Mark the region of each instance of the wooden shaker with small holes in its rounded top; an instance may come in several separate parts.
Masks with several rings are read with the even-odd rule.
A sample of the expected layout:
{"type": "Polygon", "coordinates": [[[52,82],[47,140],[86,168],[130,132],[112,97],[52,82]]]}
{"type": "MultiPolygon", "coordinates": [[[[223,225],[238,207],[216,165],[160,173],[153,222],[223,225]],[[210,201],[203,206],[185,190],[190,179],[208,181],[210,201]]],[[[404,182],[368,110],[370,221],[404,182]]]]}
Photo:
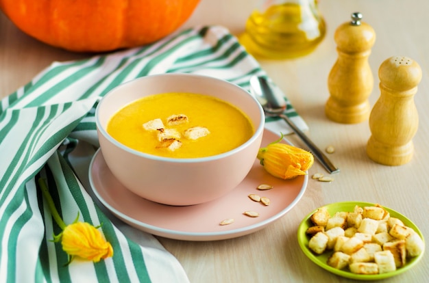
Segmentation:
{"type": "Polygon", "coordinates": [[[370,159],[384,165],[402,165],[413,157],[413,137],[419,126],[414,95],[421,80],[421,68],[408,57],[394,56],[378,69],[380,98],[369,116],[370,159]]]}

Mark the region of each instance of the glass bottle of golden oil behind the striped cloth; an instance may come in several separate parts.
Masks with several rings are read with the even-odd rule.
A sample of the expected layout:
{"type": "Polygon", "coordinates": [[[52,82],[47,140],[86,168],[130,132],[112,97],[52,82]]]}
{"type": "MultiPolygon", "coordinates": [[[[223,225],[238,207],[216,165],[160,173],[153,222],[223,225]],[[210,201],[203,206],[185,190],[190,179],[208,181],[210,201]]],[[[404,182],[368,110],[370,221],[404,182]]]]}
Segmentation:
{"type": "Polygon", "coordinates": [[[311,53],[323,40],[326,25],[317,0],[265,2],[247,19],[239,41],[256,58],[290,59],[311,53]]]}

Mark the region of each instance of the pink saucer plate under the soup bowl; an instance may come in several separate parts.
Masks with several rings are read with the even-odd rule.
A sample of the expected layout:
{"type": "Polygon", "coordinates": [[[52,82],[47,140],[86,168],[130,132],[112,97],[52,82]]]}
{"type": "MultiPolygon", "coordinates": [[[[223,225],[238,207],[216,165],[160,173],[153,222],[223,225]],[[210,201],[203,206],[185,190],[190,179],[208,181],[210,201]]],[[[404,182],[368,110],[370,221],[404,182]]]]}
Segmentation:
{"type": "MultiPolygon", "coordinates": [[[[279,138],[265,129],[262,146],[279,138]]],[[[283,142],[287,143],[285,139],[283,142]]],[[[101,150],[97,150],[90,163],[89,180],[100,202],[130,226],[169,239],[215,241],[256,232],[285,215],[304,195],[308,175],[291,180],[275,178],[256,159],[245,180],[227,195],[193,206],[169,206],[145,200],[126,189],[110,172],[101,150]],[[260,184],[273,185],[273,189],[260,191],[256,189],[260,184]],[[269,198],[271,204],[250,200],[250,193],[269,198]],[[248,217],[244,211],[256,211],[259,217],[248,217]],[[219,225],[229,218],[234,223],[219,225]]]]}

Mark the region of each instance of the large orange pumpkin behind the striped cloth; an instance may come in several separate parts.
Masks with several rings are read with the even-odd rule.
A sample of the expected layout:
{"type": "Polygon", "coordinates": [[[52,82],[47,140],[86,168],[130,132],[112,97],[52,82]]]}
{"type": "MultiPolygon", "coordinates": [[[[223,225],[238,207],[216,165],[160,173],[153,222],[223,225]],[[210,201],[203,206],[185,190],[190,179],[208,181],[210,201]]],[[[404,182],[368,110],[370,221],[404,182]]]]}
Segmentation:
{"type": "Polygon", "coordinates": [[[167,36],[199,0],[0,0],[0,9],[29,36],[70,51],[99,52],[167,36]]]}

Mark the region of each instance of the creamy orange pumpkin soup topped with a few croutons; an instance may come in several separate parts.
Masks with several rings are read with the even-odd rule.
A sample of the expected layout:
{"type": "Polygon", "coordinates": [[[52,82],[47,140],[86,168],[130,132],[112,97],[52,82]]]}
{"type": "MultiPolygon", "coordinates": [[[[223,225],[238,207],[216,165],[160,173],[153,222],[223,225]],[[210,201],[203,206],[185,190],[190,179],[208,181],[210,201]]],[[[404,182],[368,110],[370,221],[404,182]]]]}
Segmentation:
{"type": "Polygon", "coordinates": [[[244,144],[254,134],[237,107],[203,94],[165,93],[140,98],[112,116],[108,133],[148,154],[209,157],[244,144]]]}

